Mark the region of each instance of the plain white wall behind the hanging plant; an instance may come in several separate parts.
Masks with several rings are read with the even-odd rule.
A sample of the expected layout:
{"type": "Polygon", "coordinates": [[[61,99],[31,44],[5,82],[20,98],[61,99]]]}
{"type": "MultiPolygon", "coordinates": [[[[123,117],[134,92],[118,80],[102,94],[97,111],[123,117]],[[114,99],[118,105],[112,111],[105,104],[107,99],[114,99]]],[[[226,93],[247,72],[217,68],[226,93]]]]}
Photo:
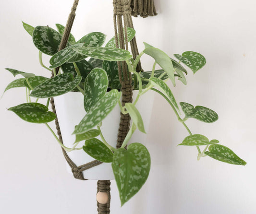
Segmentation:
{"type": "MultiPolygon", "coordinates": [[[[256,1],[155,0],[157,17],[134,18],[140,50],[143,41],[170,56],[193,50],[207,65],[187,86],[172,89],[177,101],[214,109],[213,124],[189,119],[193,133],[218,139],[247,161],[233,166],[205,157],[194,147],[176,146],[188,135],[168,104],[155,99],[147,147],[152,166],[140,192],[122,208],[115,181],[112,214],[256,213],[256,1]]],[[[65,24],[73,0],[0,2],[0,92],[14,80],[4,68],[49,76],[21,21],[65,24]]],[[[113,35],[112,1],[81,0],[73,25],[76,39],[92,31],[113,35]]],[[[49,58],[45,58],[45,62],[49,58]]],[[[143,67],[150,70],[149,58],[143,67]]],[[[96,214],[96,181],[80,181],[66,172],[61,149],[43,125],[26,123],[6,108],[24,102],[24,90],[12,89],[0,100],[0,213],[96,214]]]]}

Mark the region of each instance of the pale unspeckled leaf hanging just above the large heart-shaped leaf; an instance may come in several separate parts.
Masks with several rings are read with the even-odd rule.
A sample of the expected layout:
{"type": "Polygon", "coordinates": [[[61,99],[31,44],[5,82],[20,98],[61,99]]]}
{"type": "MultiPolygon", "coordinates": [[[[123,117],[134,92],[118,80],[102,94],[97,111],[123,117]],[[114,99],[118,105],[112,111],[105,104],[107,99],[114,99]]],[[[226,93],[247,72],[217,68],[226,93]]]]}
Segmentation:
{"type": "Polygon", "coordinates": [[[136,127],[138,128],[138,130],[143,133],[146,133],[141,115],[140,115],[138,109],[134,106],[134,104],[133,103],[125,103],[124,107],[128,111],[129,115],[131,116],[131,118],[132,118],[134,124],[136,125],[136,127]]]}

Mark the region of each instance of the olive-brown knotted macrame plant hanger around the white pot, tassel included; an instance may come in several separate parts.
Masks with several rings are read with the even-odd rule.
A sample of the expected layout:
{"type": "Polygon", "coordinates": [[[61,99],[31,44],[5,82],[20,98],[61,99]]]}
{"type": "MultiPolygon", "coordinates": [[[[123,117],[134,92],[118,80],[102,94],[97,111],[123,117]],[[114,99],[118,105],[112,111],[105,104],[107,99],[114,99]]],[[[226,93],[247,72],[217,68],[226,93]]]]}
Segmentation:
{"type": "MultiPolygon", "coordinates": [[[[71,13],[69,14],[68,21],[65,26],[63,36],[61,38],[59,51],[65,48],[67,45],[71,28],[74,22],[75,11],[76,11],[78,2],[79,0],[74,0],[73,2],[71,13]]],[[[144,18],[147,17],[148,15],[149,16],[157,15],[155,5],[154,5],[154,0],[113,0],[113,7],[114,7],[114,29],[115,29],[116,47],[128,50],[127,27],[134,28],[132,15],[134,17],[137,17],[138,15],[140,15],[144,18]]],[[[139,55],[135,37],[130,41],[130,45],[131,45],[133,58],[135,59],[139,55]]],[[[56,68],[56,73],[59,72],[59,69],[60,67],[56,68]]],[[[142,71],[140,62],[138,63],[136,70],[142,71]]],[[[124,106],[125,103],[133,101],[132,76],[131,76],[131,73],[127,71],[127,66],[125,61],[118,62],[118,73],[119,73],[120,83],[122,84],[122,88],[121,88],[122,105],[124,106]]],[[[53,77],[53,71],[52,71],[51,77],[53,77]]],[[[56,114],[53,98],[50,99],[50,103],[51,103],[52,111],[56,114]]],[[[117,136],[117,146],[116,146],[117,148],[121,147],[129,131],[130,120],[131,118],[129,114],[123,115],[121,113],[118,136],[117,136]]],[[[55,119],[55,125],[57,129],[57,133],[59,135],[59,140],[63,144],[57,114],[55,119]]],[[[67,163],[71,167],[73,176],[76,179],[87,180],[83,176],[83,171],[102,164],[102,162],[98,160],[94,160],[84,165],[76,166],[63,148],[62,148],[62,153],[67,163]]],[[[98,214],[110,214],[110,180],[98,180],[97,193],[98,192],[106,192],[108,194],[108,202],[106,204],[97,202],[98,214]]]]}

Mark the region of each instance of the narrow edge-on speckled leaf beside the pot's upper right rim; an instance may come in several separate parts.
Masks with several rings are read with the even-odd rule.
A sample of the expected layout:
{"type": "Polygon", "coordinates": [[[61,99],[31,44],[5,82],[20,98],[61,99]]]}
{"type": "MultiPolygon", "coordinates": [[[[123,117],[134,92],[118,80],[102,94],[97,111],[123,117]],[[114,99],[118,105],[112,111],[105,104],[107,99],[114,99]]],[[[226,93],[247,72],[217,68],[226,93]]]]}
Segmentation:
{"type": "Polygon", "coordinates": [[[180,110],[171,92],[171,89],[168,87],[168,85],[165,82],[163,82],[162,80],[159,80],[156,77],[150,77],[149,82],[154,87],[158,87],[161,90],[161,92],[163,92],[164,95],[166,95],[170,99],[173,106],[175,106],[177,110],[180,110]]]}

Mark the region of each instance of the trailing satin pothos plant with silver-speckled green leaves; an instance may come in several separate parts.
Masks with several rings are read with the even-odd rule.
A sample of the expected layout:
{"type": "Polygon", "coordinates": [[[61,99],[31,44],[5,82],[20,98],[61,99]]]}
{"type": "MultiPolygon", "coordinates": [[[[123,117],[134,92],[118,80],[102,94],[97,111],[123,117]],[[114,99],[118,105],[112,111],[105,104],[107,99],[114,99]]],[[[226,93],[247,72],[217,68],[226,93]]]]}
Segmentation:
{"type": "MultiPolygon", "coordinates": [[[[56,24],[58,31],[49,26],[32,27],[23,23],[24,29],[32,36],[34,45],[39,50],[39,62],[49,71],[53,71],[54,77],[38,76],[34,73],[18,71],[7,68],[13,76],[21,75],[8,84],[5,91],[23,87],[26,91],[26,102],[15,107],[8,108],[21,119],[32,123],[45,124],[56,138],[57,142],[68,152],[84,150],[85,153],[101,162],[112,163],[112,169],[120,193],[121,205],[131,199],[146,182],[150,170],[150,155],[146,147],[141,143],[130,142],[134,131],[138,129],[145,133],[143,119],[136,108],[136,103],[147,91],[153,90],[163,96],[188,131],[182,146],[195,146],[197,159],[209,156],[216,160],[235,165],[245,165],[246,162],[239,158],[231,149],[220,145],[218,140],[209,140],[202,134],[192,134],[185,124],[187,119],[197,119],[206,123],[213,123],[218,119],[215,111],[189,103],[176,102],[167,81],[171,80],[175,86],[176,79],[186,85],[186,69],[182,62],[195,74],[206,64],[206,59],[199,53],[186,51],[182,55],[174,54],[178,61],[171,59],[168,54],[153,46],[145,44],[145,49],[132,58],[129,51],[116,48],[113,37],[104,47],[106,35],[93,32],[76,41],[70,35],[67,47],[58,51],[64,26],[56,24]],[[42,62],[42,53],[52,56],[47,67],[42,62]],[[142,55],[149,55],[155,62],[152,71],[136,72],[136,67],[142,55]],[[88,60],[87,60],[88,59],[88,60]],[[117,61],[126,61],[128,71],[132,73],[133,88],[138,90],[138,95],[133,103],[122,106],[121,84],[118,77],[117,61]],[[156,65],[162,69],[155,70],[156,65]],[[56,72],[56,68],[61,71],[56,72]],[[67,148],[59,141],[48,123],[55,119],[55,114],[49,111],[49,99],[63,95],[70,91],[77,91],[84,95],[85,117],[74,127],[75,142],[72,148],[67,148]],[[35,101],[32,102],[32,98],[35,101]],[[45,104],[39,103],[39,99],[47,98],[45,104]],[[119,105],[123,114],[129,114],[132,119],[130,130],[122,143],[121,148],[116,149],[106,142],[100,126],[113,108],[119,105]],[[181,110],[184,114],[181,114],[181,110]],[[182,117],[183,115],[183,117],[182,117]],[[101,140],[96,137],[100,136],[101,140]],[[78,146],[80,143],[83,146],[78,146]],[[125,147],[127,146],[127,149],[125,147]],[[203,147],[203,148],[201,148],[203,147]]],[[[127,39],[131,41],[135,35],[132,28],[127,28],[127,39]]],[[[50,73],[47,74],[48,76],[50,73]]],[[[42,100],[44,101],[44,100],[42,100]]]]}

